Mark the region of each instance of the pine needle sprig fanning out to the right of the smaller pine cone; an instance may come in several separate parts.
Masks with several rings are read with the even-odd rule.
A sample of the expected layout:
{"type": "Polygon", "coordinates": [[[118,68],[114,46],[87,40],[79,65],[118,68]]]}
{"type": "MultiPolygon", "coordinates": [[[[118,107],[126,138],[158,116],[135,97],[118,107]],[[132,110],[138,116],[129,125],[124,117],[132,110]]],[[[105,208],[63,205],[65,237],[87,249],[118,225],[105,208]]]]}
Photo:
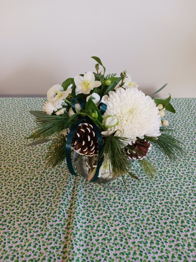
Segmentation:
{"type": "Polygon", "coordinates": [[[160,128],[161,135],[158,139],[151,141],[152,144],[160,150],[169,160],[177,161],[179,158],[186,155],[185,150],[183,149],[183,141],[177,139],[173,136],[171,128],[160,128]]]}

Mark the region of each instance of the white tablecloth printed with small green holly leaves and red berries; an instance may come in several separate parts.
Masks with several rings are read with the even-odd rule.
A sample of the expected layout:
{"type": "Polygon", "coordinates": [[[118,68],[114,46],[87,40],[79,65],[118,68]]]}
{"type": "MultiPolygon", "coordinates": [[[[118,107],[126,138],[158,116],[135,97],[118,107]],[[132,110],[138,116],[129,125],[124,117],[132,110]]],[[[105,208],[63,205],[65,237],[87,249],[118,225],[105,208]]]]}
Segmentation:
{"type": "Polygon", "coordinates": [[[196,261],[196,99],[172,99],[166,119],[187,157],[158,151],[150,182],[127,177],[106,185],[44,170],[46,145],[25,147],[41,98],[0,99],[0,261],[196,261]]]}

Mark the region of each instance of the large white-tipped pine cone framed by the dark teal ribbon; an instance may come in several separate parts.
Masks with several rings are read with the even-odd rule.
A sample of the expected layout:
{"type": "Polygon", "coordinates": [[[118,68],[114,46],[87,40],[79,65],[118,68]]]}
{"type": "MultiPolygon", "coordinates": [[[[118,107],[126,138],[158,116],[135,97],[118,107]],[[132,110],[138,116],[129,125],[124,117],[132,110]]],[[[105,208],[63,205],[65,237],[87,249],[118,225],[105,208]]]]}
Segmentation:
{"type": "Polygon", "coordinates": [[[71,149],[87,157],[98,153],[98,139],[92,125],[87,123],[78,125],[71,141],[71,149]]]}

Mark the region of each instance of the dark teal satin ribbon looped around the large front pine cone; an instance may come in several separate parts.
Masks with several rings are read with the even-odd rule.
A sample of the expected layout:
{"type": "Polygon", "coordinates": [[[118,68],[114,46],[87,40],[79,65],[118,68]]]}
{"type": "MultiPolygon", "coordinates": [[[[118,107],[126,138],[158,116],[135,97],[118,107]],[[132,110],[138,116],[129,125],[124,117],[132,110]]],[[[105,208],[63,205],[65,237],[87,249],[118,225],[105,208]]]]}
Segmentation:
{"type": "MultiPolygon", "coordinates": [[[[78,101],[82,107],[82,109],[85,108],[85,103],[83,102],[82,99],[80,98],[73,98],[71,100],[71,108],[73,109],[74,113],[77,113],[76,110],[75,110],[75,102],[78,101]]],[[[106,111],[106,108],[107,108],[107,105],[104,104],[104,103],[100,103],[98,105],[98,109],[100,110],[100,113],[101,115],[104,114],[104,112],[106,111]],[[100,107],[101,110],[100,110],[100,107]]],[[[102,139],[102,135],[101,135],[101,132],[100,132],[100,129],[93,123],[93,121],[90,120],[90,118],[88,117],[82,117],[80,118],[74,125],[73,127],[70,129],[70,132],[68,134],[68,137],[67,137],[67,142],[66,142],[66,146],[65,146],[65,153],[66,153],[66,160],[67,160],[67,166],[68,166],[68,169],[69,169],[69,172],[74,175],[74,176],[78,176],[75,171],[74,171],[74,168],[73,168],[73,165],[72,165],[72,160],[71,160],[71,141],[72,141],[72,138],[73,138],[73,135],[74,135],[74,132],[76,131],[78,125],[81,124],[81,122],[85,121],[86,123],[90,124],[93,126],[93,130],[95,131],[96,133],[96,136],[97,136],[97,140],[98,140],[98,146],[99,146],[99,151],[98,151],[98,159],[97,159],[97,165],[96,165],[96,171],[95,171],[95,174],[94,174],[94,177],[93,179],[90,181],[90,182],[95,182],[97,181],[98,179],[98,176],[99,176],[99,170],[100,170],[100,167],[103,163],[103,157],[99,157],[101,152],[103,151],[103,139],[102,139]]]]}

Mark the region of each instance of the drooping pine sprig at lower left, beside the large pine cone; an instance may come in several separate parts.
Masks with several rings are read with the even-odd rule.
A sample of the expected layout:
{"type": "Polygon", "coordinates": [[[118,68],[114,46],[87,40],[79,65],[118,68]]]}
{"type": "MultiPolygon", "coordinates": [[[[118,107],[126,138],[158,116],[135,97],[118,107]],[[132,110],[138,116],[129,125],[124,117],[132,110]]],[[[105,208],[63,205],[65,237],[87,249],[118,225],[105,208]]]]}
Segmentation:
{"type": "Polygon", "coordinates": [[[45,157],[46,168],[59,166],[62,161],[65,159],[65,146],[66,146],[66,137],[64,134],[58,134],[52,142],[46,147],[47,154],[45,157]]]}

